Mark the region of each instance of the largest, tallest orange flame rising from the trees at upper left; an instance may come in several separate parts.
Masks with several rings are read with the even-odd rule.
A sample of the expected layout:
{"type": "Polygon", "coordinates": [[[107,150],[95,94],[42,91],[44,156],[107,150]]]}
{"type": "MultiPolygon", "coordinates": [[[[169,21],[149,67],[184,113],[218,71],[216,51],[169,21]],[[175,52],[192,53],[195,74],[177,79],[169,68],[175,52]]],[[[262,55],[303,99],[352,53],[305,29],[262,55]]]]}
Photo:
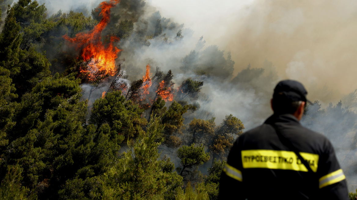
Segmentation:
{"type": "Polygon", "coordinates": [[[63,36],[65,40],[76,47],[77,51],[81,49],[81,56],[85,61],[93,58],[88,69],[91,74],[98,70],[105,70],[110,75],[115,74],[115,59],[118,57],[117,54],[122,50],[114,47],[113,42],[119,41],[119,38],[111,36],[109,44],[105,47],[101,41],[101,33],[109,23],[110,9],[119,3],[119,1],[110,0],[110,2],[101,2],[101,12],[99,15],[102,16],[102,19],[93,30],[88,33],[77,33],[74,38],[70,38],[68,35],[63,36]]]}

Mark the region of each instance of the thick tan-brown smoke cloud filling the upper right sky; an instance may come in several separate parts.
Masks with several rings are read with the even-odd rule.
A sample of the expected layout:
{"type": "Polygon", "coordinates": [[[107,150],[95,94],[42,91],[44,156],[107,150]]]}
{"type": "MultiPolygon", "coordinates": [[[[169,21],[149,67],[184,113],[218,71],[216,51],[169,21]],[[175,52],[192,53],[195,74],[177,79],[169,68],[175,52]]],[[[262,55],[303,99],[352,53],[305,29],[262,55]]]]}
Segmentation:
{"type": "Polygon", "coordinates": [[[348,0],[257,0],[227,37],[227,48],[237,69],[248,63],[258,66],[268,58],[282,78],[302,81],[310,99],[328,105],[357,88],[356,7],[348,0]],[[321,96],[315,90],[325,84],[332,95],[321,96]]]}

